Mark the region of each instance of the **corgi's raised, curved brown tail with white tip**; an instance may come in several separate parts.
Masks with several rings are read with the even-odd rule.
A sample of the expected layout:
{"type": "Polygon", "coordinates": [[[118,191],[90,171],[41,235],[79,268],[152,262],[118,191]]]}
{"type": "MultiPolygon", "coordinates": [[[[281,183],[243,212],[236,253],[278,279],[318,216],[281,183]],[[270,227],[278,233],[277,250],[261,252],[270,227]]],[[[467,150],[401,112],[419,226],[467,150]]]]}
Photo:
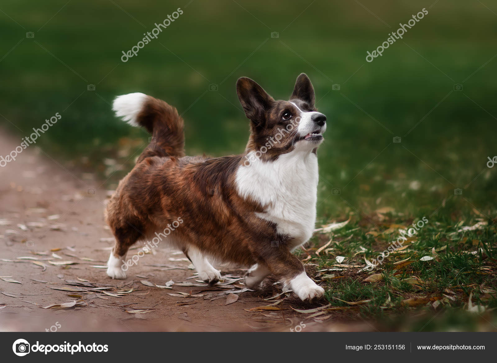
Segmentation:
{"type": "Polygon", "coordinates": [[[150,156],[184,156],[184,121],[176,108],[144,93],[128,93],[114,99],[112,109],[132,126],[152,134],[138,161],[150,156]]]}

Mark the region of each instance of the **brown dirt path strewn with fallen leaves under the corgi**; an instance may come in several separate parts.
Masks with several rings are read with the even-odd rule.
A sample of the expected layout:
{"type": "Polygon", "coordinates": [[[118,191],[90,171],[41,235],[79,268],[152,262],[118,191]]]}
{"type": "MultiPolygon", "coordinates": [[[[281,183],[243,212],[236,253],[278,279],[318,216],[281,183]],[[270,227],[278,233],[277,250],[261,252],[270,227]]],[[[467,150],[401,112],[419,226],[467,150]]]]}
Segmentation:
{"type": "MultiPolygon", "coordinates": [[[[0,155],[19,143],[2,132],[0,155]]],[[[305,319],[309,314],[296,313],[290,306],[320,305],[302,304],[290,294],[276,305],[281,310],[246,311],[273,303],[263,300],[281,292],[271,283],[262,291],[236,293],[238,301],[228,305],[226,291],[243,289],[243,280],[214,287],[144,285],[142,280],[162,286],[169,280],[200,284],[192,278],[195,271],[184,255],[161,245],[131,267],[128,278],[110,279],[105,269],[93,267],[105,265],[113,244],[103,220],[107,191],[100,184],[90,175],[69,171],[34,145],[0,168],[0,331],[289,331],[301,321],[307,331],[353,329],[305,319]],[[67,261],[76,264],[51,264],[67,261]],[[198,296],[177,296],[180,293],[198,296]],[[78,305],[42,308],[72,301],[78,305]]],[[[130,251],[128,258],[137,251],[130,251]]],[[[225,282],[243,273],[223,270],[228,275],[225,282]]]]}

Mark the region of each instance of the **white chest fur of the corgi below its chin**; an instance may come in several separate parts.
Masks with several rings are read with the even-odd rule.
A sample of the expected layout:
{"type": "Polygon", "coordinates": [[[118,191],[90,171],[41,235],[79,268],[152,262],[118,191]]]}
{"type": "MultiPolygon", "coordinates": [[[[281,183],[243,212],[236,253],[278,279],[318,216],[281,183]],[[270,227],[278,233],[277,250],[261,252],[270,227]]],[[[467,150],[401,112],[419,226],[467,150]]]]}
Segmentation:
{"type": "Polygon", "coordinates": [[[318,179],[316,154],[297,150],[274,162],[254,160],[240,166],[236,175],[239,194],[261,203],[265,211],[257,216],[276,223],[278,233],[293,238],[293,248],[312,236],[318,179]]]}

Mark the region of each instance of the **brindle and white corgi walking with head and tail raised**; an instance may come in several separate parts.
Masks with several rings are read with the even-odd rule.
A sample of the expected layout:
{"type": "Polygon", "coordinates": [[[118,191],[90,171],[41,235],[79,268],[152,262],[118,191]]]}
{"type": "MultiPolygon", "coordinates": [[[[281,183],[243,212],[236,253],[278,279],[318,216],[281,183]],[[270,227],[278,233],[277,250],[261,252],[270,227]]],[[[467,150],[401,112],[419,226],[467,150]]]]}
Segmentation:
{"type": "Polygon", "coordinates": [[[302,300],[323,297],[292,251],[315,228],[326,116],[316,110],[304,73],[288,101],[246,77],[237,81],[237,94],[250,120],[247,147],[219,158],[185,156],[183,119],[165,101],[143,93],[115,98],[116,115],[152,137],[107,204],[116,241],[110,277],[126,278],[126,254],[137,241],[165,241],[211,284],[221,279],[213,264],[230,263],[249,268],[250,289],[272,274],[302,300]]]}

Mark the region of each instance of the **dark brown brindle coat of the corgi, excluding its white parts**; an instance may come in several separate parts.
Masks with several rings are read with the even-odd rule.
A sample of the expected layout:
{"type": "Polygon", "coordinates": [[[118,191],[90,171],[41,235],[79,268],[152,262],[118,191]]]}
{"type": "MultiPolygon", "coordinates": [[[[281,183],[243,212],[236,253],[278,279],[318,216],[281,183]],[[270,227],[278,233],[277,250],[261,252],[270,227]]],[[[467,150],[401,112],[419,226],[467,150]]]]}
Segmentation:
{"type": "MultiPolygon", "coordinates": [[[[258,150],[278,129],[284,110],[297,112],[289,101],[274,100],[248,78],[237,93],[250,121],[250,137],[241,155],[220,158],[184,156],[183,119],[166,102],[148,97],[138,123],[152,133],[133,170],[119,182],[110,199],[106,220],[116,238],[113,254],[124,256],[137,240],[147,241],[178,217],[183,223],[167,241],[187,256],[195,246],[211,261],[249,267],[260,264],[288,282],[304,271],[291,253],[290,236],[276,233],[276,225],[256,217],[265,207],[243,199],[235,174],[244,155],[258,150]]],[[[305,111],[315,110],[314,90],[306,75],[297,79],[290,100],[305,111]]],[[[293,149],[296,128],[261,157],[275,160],[293,149]]],[[[316,149],[314,150],[316,152],[316,149]]]]}

